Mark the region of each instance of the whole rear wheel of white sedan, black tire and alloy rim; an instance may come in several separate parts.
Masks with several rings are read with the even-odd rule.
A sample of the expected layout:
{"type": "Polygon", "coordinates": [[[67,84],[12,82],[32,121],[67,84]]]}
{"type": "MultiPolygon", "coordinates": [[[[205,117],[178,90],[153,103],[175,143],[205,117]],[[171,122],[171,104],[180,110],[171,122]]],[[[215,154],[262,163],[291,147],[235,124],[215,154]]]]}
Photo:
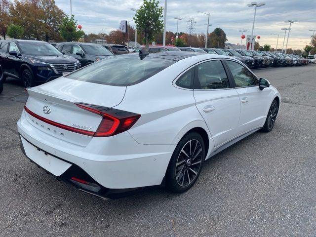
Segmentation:
{"type": "Polygon", "coordinates": [[[204,158],[205,146],[201,135],[197,132],[185,135],[170,159],[166,172],[166,188],[174,193],[189,190],[197,181],[204,158]]]}

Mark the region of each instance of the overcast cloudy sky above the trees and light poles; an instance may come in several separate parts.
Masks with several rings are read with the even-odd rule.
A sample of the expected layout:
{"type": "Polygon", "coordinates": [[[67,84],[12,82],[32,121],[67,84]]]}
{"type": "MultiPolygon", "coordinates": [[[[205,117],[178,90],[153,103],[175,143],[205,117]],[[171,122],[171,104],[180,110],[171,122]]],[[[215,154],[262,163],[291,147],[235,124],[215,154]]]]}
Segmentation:
{"type": "MultiPolygon", "coordinates": [[[[70,14],[70,0],[55,0],[58,7],[66,14],[70,14]]],[[[240,43],[241,33],[239,30],[247,30],[244,34],[251,34],[254,7],[248,7],[251,0],[168,0],[167,4],[167,31],[176,32],[177,21],[174,17],[183,17],[179,21],[179,32],[187,32],[187,21],[194,18],[195,33],[206,33],[207,15],[197,13],[203,11],[210,13],[209,32],[215,28],[222,28],[228,42],[240,43]]],[[[303,48],[306,42],[310,42],[313,32],[316,30],[316,0],[266,0],[266,5],[257,8],[254,35],[260,35],[260,45],[269,43],[276,47],[279,34],[278,48],[282,47],[284,31],[289,23],[285,20],[297,20],[293,23],[290,31],[288,47],[303,48]],[[300,42],[303,41],[303,42],[300,42]]],[[[120,20],[132,20],[134,11],[130,8],[138,8],[141,0],[72,0],[73,14],[82,25],[86,33],[105,33],[118,29],[120,20]]],[[[164,1],[160,1],[164,6],[164,1]]],[[[134,23],[130,22],[133,26],[134,23]]],[[[244,42],[244,40],[243,40],[244,42]]],[[[286,43],[286,39],[285,39],[286,43]]],[[[285,45],[284,45],[285,46],[285,45]]]]}

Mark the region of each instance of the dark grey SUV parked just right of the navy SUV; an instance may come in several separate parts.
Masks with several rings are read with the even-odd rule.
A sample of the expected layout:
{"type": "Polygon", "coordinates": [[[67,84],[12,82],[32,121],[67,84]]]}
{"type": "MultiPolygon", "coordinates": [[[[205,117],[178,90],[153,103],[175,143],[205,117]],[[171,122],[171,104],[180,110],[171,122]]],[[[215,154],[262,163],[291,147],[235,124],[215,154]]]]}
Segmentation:
{"type": "Polygon", "coordinates": [[[105,47],[96,43],[64,42],[57,43],[56,48],[62,53],[78,59],[82,67],[108,56],[114,56],[105,47]]]}

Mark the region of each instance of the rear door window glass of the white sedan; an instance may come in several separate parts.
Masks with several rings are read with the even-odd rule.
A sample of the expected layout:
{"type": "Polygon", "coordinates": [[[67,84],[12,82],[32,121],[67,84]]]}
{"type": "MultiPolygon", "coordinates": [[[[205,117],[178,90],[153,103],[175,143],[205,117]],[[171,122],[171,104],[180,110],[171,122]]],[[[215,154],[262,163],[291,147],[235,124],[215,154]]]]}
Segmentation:
{"type": "Polygon", "coordinates": [[[229,81],[220,60],[208,61],[197,65],[197,89],[229,88],[229,81]]]}

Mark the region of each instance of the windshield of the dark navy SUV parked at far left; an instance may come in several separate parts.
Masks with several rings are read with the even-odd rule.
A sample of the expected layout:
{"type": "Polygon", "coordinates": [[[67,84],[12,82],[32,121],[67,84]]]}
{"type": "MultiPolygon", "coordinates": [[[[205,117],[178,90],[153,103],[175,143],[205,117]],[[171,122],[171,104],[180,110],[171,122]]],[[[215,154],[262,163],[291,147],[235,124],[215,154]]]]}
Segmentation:
{"type": "Polygon", "coordinates": [[[43,42],[19,42],[22,53],[34,56],[59,56],[63,55],[53,45],[43,42]]]}

